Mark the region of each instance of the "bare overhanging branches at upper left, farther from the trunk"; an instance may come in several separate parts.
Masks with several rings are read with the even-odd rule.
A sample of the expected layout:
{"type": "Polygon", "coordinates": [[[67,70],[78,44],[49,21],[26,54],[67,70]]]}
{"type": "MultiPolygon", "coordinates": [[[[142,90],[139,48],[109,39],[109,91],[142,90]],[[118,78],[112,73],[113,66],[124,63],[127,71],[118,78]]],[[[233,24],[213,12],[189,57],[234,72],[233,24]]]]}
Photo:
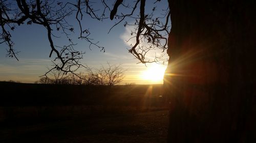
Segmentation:
{"type": "MultiPolygon", "coordinates": [[[[56,58],[52,61],[53,68],[50,69],[47,73],[52,70],[61,70],[65,73],[74,72],[79,67],[83,66],[79,60],[82,59],[83,52],[77,51],[73,46],[75,45],[72,42],[72,38],[69,37],[69,33],[74,32],[74,27],[69,24],[67,18],[75,13],[75,19],[79,24],[79,39],[86,40],[91,45],[94,45],[104,51],[104,47],[97,45],[97,42],[92,41],[89,37],[90,31],[82,28],[81,19],[84,14],[89,15],[91,18],[101,20],[102,16],[95,14],[93,6],[89,1],[80,1],[77,3],[70,2],[57,2],[51,0],[44,1],[25,1],[25,0],[16,0],[0,1],[0,23],[1,23],[1,38],[0,43],[5,43],[8,45],[9,49],[7,50],[7,55],[14,57],[18,60],[16,51],[14,49],[14,42],[11,39],[12,32],[15,32],[15,29],[22,24],[37,24],[45,27],[47,31],[46,37],[49,40],[51,51],[49,57],[51,58],[52,54],[56,54],[56,58]],[[85,9],[85,10],[82,10],[85,9]],[[55,46],[52,37],[53,31],[58,31],[61,34],[64,34],[69,40],[70,45],[63,47],[55,46]]],[[[46,73],[46,74],[47,74],[46,73]]]]}

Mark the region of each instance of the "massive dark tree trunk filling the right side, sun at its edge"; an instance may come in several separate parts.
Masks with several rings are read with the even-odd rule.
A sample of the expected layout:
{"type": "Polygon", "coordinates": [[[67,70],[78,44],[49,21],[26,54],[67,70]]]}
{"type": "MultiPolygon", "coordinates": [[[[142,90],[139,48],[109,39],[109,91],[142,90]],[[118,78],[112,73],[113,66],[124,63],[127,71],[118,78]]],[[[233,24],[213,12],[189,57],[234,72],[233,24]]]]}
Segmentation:
{"type": "Polygon", "coordinates": [[[168,142],[255,139],[255,2],[169,0],[169,7],[168,142]]]}

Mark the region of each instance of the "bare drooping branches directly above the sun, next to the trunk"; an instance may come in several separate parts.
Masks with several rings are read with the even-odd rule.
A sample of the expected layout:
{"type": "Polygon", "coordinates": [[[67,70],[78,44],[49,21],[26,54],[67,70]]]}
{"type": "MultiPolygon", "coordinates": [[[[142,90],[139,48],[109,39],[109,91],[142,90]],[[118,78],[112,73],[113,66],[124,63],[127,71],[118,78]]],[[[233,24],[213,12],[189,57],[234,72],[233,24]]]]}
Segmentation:
{"type": "Polygon", "coordinates": [[[114,18],[117,20],[116,24],[110,28],[110,31],[121,22],[124,22],[125,27],[134,27],[134,30],[131,31],[131,38],[127,40],[129,42],[135,39],[135,43],[131,44],[129,52],[143,64],[153,62],[164,64],[166,62],[164,54],[155,54],[154,60],[148,58],[148,54],[156,49],[161,49],[162,53],[165,53],[164,51],[167,49],[167,36],[170,30],[170,10],[168,7],[160,8],[161,13],[156,13],[159,2],[147,2],[147,6],[152,7],[152,10],[148,11],[145,10],[145,0],[130,2],[126,5],[122,0],[119,0],[116,1],[110,14],[111,20],[114,18]],[[118,7],[122,7],[119,9],[129,8],[130,13],[124,14],[121,10],[119,12],[117,10],[118,7]],[[130,20],[132,22],[125,21],[127,18],[132,19],[130,20]]]}

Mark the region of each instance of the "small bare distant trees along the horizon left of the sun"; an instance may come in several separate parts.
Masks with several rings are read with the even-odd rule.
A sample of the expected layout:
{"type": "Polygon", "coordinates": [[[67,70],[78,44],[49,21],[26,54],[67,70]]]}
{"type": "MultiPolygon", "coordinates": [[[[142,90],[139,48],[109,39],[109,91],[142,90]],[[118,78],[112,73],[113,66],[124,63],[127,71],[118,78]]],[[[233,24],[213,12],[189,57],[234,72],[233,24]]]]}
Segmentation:
{"type": "Polygon", "coordinates": [[[124,78],[125,70],[121,65],[110,65],[100,69],[86,67],[85,72],[66,74],[61,70],[52,70],[49,76],[41,77],[35,83],[43,84],[83,84],[83,85],[116,85],[124,78]]]}

